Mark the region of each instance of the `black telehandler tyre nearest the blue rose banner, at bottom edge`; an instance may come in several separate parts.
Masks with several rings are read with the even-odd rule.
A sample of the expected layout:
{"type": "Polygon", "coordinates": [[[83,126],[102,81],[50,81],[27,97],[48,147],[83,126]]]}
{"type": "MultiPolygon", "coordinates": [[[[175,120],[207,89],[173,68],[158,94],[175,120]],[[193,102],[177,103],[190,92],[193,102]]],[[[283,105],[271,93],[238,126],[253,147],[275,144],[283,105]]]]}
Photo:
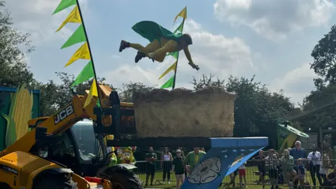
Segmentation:
{"type": "Polygon", "coordinates": [[[116,170],[114,172],[106,173],[109,175],[108,179],[111,181],[112,188],[116,189],[144,189],[142,182],[134,172],[127,170],[116,170]]]}

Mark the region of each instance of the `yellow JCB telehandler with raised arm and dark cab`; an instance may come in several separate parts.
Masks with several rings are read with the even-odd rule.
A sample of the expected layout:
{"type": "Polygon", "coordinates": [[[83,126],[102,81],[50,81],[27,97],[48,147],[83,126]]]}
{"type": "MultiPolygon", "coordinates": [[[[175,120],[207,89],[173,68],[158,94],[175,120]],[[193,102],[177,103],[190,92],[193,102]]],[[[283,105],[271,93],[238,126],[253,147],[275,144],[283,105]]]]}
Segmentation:
{"type": "Polygon", "coordinates": [[[118,93],[104,85],[99,85],[99,95],[101,107],[95,98],[83,107],[87,95],[74,94],[72,102],[54,116],[29,120],[33,130],[0,152],[0,188],[142,188],[130,172],[137,167],[107,166],[104,143],[107,134],[120,139],[121,133],[137,132],[133,104],[120,103],[118,93]],[[81,136],[90,143],[81,144],[83,140],[71,129],[75,124],[92,128],[81,136]]]}

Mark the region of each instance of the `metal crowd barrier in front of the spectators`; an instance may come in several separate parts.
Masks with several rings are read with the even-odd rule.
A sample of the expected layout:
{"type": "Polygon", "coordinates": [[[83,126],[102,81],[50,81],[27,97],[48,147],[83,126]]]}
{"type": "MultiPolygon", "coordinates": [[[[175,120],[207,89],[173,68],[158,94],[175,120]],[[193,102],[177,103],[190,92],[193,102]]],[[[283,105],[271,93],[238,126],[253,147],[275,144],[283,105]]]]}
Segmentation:
{"type": "MultiPolygon", "coordinates": [[[[321,160],[318,160],[321,162],[321,160]]],[[[324,161],[324,160],[323,160],[324,161]]],[[[325,162],[330,162],[330,167],[328,169],[328,174],[330,174],[333,169],[332,169],[332,165],[336,165],[336,160],[326,160],[325,162]]],[[[155,176],[154,176],[154,182],[153,184],[155,186],[160,187],[164,186],[165,184],[167,184],[168,182],[170,182],[171,184],[174,184],[176,182],[176,177],[174,172],[166,172],[164,173],[161,167],[161,163],[162,161],[156,161],[155,162],[155,176]],[[168,180],[168,173],[170,174],[170,178],[168,180]],[[164,174],[165,174],[165,178],[164,178],[164,174]]],[[[258,160],[248,160],[246,162],[246,185],[259,185],[259,186],[271,186],[271,180],[269,179],[269,163],[266,161],[265,162],[265,176],[261,177],[263,178],[263,180],[260,180],[260,173],[258,170],[258,163],[260,163],[260,161],[258,160]]],[[[296,162],[293,162],[294,165],[296,165],[296,162]]],[[[304,169],[305,169],[305,174],[304,176],[302,176],[302,179],[304,182],[307,182],[308,185],[305,185],[304,187],[313,187],[313,177],[311,176],[311,172],[309,172],[309,169],[311,169],[311,167],[309,167],[309,163],[311,163],[310,160],[302,160],[302,164],[304,165],[304,169]]],[[[295,179],[293,176],[290,176],[286,171],[283,171],[283,167],[286,167],[286,164],[288,164],[288,162],[281,162],[280,160],[277,160],[276,165],[278,166],[278,173],[277,173],[277,177],[276,177],[276,184],[274,184],[274,188],[275,186],[288,186],[288,184],[290,184],[291,186],[295,186],[295,184],[297,184],[297,187],[299,187],[298,185],[300,185],[299,183],[296,183],[293,179],[295,179]],[[288,180],[288,176],[290,176],[290,180],[288,180]]],[[[172,164],[171,164],[172,165],[172,164]]],[[[141,181],[146,182],[146,161],[137,161],[136,166],[138,167],[137,169],[134,170],[134,173],[137,174],[139,176],[139,179],[141,179],[141,181]]],[[[289,165],[288,165],[289,166],[289,165]]],[[[320,168],[321,169],[321,168],[320,168]]],[[[335,173],[336,173],[336,169],[335,169],[335,173]]],[[[235,187],[239,187],[239,172],[235,172],[231,174],[232,178],[234,178],[234,183],[235,183],[235,187]]],[[[319,183],[319,179],[318,176],[321,176],[320,174],[315,174],[315,180],[316,180],[316,187],[321,187],[322,183],[323,183],[323,176],[321,176],[321,183],[319,183]]],[[[242,176],[241,176],[242,177],[242,176]]],[[[151,180],[151,176],[149,176],[149,181],[148,184],[150,183],[151,180]]],[[[242,184],[244,186],[244,177],[241,178],[242,179],[242,184]]],[[[225,179],[223,179],[223,182],[221,184],[221,187],[223,188],[232,188],[234,187],[234,183],[232,183],[232,179],[230,178],[230,176],[225,176],[225,179]]],[[[323,186],[323,188],[336,188],[336,182],[335,182],[335,186],[323,186]]]]}

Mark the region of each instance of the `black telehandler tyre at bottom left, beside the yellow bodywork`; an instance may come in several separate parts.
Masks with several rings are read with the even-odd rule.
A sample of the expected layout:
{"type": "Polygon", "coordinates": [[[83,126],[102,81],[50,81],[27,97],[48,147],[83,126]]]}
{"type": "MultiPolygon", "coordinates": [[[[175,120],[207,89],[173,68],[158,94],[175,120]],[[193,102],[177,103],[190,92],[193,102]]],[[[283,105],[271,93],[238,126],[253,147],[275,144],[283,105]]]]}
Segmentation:
{"type": "Polygon", "coordinates": [[[35,179],[33,189],[78,189],[77,184],[64,175],[47,174],[35,179]]]}

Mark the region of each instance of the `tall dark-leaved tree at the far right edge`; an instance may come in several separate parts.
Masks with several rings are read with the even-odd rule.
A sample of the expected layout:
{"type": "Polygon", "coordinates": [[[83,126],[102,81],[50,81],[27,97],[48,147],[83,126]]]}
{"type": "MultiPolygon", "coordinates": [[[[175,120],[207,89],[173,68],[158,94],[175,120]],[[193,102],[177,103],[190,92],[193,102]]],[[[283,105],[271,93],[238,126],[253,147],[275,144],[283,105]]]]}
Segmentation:
{"type": "Polygon", "coordinates": [[[311,52],[311,69],[320,76],[314,79],[312,90],[302,103],[302,126],[318,131],[319,127],[333,127],[336,114],[336,25],[315,45],[311,52]]]}

